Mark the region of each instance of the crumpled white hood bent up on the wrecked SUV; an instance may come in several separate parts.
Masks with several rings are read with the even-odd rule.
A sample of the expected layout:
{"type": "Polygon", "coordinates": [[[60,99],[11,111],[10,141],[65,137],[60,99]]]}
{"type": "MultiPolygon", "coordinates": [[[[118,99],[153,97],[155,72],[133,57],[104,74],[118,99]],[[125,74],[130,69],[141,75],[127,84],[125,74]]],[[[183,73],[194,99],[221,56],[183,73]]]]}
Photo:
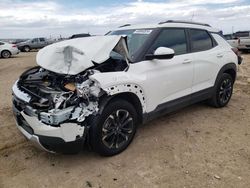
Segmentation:
{"type": "Polygon", "coordinates": [[[128,59],[126,38],[123,36],[93,36],[51,44],[41,49],[37,64],[60,74],[76,75],[94,65],[107,61],[114,50],[128,59]]]}

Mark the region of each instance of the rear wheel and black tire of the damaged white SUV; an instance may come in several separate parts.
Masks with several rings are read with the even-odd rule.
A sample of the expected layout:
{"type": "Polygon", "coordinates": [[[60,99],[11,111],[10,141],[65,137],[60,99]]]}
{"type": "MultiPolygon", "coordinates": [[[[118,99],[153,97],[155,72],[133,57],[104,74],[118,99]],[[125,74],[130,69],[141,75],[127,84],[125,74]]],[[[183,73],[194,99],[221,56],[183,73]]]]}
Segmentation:
{"type": "Polygon", "coordinates": [[[233,84],[234,81],[232,76],[230,74],[223,73],[215,86],[213,97],[209,100],[210,105],[216,108],[226,106],[233,94],[233,84]]]}

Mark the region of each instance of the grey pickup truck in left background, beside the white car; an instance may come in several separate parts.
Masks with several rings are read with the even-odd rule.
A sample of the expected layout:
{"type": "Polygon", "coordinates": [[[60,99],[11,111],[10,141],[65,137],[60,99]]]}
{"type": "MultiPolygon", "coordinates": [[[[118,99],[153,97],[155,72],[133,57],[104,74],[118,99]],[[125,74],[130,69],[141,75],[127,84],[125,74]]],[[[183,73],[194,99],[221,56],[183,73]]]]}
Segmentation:
{"type": "Polygon", "coordinates": [[[52,44],[52,42],[47,40],[46,38],[40,37],[40,38],[33,38],[24,42],[20,42],[17,44],[17,47],[22,52],[29,52],[30,50],[40,49],[49,44],[52,44]]]}

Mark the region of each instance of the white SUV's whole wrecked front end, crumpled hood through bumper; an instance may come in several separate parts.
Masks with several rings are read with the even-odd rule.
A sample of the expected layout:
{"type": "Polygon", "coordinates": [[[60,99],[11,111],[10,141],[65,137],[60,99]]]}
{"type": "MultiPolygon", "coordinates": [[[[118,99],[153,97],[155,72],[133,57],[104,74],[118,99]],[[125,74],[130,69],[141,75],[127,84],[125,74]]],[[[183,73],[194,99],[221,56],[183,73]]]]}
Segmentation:
{"type": "Polygon", "coordinates": [[[88,132],[86,119],[98,113],[99,100],[108,95],[91,76],[128,69],[126,39],[58,42],[41,49],[36,60],[39,67],[24,72],[13,86],[17,127],[47,151],[79,151],[88,132]]]}

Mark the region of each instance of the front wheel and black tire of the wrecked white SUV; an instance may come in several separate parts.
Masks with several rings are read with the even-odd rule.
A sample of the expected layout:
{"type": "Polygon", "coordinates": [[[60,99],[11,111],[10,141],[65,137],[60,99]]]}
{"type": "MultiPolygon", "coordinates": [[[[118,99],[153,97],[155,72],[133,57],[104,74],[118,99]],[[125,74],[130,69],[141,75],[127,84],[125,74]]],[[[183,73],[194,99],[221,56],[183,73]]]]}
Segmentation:
{"type": "Polygon", "coordinates": [[[137,113],[132,104],[116,99],[108,103],[100,115],[90,117],[89,123],[91,148],[100,155],[112,156],[124,151],[132,142],[137,113]]]}

